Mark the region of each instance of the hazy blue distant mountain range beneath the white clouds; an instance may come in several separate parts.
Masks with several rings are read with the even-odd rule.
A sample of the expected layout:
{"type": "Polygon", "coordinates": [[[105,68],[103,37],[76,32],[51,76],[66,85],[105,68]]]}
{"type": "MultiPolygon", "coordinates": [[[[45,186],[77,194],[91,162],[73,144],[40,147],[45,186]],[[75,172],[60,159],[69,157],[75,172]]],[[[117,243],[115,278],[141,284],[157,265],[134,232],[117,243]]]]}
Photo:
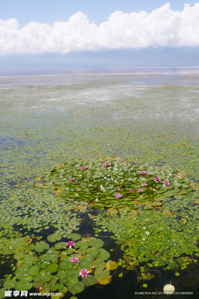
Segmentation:
{"type": "Polygon", "coordinates": [[[0,70],[116,66],[196,66],[199,47],[120,49],[102,52],[0,56],[0,70]]]}

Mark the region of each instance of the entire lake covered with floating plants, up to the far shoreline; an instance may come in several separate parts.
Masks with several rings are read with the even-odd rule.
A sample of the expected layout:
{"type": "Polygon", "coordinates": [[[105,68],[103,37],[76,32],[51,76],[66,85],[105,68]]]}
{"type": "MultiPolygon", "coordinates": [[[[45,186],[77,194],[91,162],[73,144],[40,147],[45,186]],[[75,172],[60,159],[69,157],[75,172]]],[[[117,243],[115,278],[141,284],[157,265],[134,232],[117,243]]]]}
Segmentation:
{"type": "Polygon", "coordinates": [[[152,292],[170,283],[197,298],[198,78],[199,67],[0,72],[0,298],[164,298],[152,292]]]}

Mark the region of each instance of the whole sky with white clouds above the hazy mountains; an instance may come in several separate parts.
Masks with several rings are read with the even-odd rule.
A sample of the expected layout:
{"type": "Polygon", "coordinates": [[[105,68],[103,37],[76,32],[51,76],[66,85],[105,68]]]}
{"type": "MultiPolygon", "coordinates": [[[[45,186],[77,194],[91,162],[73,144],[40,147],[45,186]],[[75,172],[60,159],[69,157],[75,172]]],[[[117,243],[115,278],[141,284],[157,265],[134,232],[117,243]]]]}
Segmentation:
{"type": "Polygon", "coordinates": [[[199,3],[185,1],[1,0],[0,55],[197,47],[199,3]]]}

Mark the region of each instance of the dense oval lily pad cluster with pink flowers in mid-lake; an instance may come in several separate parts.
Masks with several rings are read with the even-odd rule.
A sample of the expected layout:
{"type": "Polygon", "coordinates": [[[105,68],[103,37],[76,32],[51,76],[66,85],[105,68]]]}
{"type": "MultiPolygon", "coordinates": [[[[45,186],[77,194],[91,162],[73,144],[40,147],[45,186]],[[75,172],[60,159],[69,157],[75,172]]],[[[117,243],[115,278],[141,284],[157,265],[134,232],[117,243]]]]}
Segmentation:
{"type": "Polygon", "coordinates": [[[186,173],[177,171],[169,166],[135,166],[118,157],[76,159],[53,167],[44,175],[43,182],[34,186],[51,186],[65,200],[85,200],[92,208],[137,209],[138,203],[143,203],[144,209],[149,210],[162,206],[168,197],[183,199],[183,194],[192,191],[190,180],[184,179],[186,173]]]}

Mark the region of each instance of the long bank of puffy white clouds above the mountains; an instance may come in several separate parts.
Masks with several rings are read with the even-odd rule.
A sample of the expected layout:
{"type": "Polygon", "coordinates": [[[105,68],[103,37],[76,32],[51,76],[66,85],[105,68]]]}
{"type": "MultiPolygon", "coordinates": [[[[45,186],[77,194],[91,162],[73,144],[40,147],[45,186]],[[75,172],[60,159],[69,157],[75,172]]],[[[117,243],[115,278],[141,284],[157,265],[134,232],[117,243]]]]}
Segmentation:
{"type": "Polygon", "coordinates": [[[0,54],[103,51],[121,48],[199,46],[199,3],[173,11],[169,3],[152,13],[112,13],[100,26],[78,12],[53,26],[0,20],[0,54]]]}

